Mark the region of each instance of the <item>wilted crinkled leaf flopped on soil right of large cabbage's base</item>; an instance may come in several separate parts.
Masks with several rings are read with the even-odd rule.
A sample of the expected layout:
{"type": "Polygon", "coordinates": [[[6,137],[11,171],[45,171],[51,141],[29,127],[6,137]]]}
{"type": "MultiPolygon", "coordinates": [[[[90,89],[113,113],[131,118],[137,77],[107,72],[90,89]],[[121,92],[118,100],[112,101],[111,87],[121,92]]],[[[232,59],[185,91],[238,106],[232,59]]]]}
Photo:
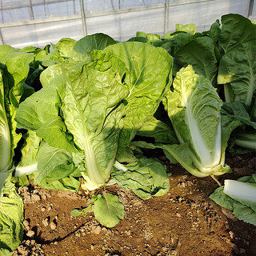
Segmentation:
{"type": "Polygon", "coordinates": [[[112,178],[128,190],[133,190],[139,198],[149,199],[162,196],[170,188],[166,166],[153,158],[140,158],[137,162],[124,165],[128,170],[116,170],[112,178]]]}

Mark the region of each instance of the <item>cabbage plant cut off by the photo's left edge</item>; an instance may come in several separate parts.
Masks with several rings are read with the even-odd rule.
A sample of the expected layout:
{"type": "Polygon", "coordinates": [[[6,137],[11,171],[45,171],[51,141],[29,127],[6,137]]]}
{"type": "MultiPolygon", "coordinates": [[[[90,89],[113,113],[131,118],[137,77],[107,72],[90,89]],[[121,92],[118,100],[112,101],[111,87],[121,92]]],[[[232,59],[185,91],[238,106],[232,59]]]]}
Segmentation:
{"type": "Polygon", "coordinates": [[[12,174],[14,150],[22,138],[14,120],[30,71],[33,54],[0,46],[0,254],[12,255],[23,235],[23,202],[17,194],[12,174]]]}

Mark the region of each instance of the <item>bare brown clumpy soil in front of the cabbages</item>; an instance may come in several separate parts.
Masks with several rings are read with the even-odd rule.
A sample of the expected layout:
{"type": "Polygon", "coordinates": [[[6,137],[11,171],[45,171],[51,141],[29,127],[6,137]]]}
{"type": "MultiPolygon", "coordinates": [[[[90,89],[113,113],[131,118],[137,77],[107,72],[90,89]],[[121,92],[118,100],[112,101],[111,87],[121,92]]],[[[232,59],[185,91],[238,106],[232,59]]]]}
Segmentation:
{"type": "MultiPolygon", "coordinates": [[[[44,190],[33,184],[19,188],[25,232],[14,256],[256,255],[256,226],[239,221],[210,200],[217,183],[160,158],[172,172],[170,191],[143,201],[131,191],[110,186],[125,207],[125,218],[111,229],[93,214],[70,216],[74,208],[86,206],[89,193],[44,190]]],[[[219,182],[256,172],[256,157],[250,154],[229,155],[226,163],[233,173],[218,177],[219,182]]]]}

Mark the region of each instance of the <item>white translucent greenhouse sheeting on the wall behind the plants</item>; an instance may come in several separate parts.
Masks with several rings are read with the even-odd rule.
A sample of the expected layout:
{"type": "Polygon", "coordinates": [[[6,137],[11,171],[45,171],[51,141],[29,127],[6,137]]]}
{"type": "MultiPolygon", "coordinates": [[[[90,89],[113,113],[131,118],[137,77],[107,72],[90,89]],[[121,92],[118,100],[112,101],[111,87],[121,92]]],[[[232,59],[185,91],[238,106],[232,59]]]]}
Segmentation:
{"type": "Polygon", "coordinates": [[[44,47],[61,38],[78,40],[85,33],[98,32],[125,41],[137,31],[161,35],[166,29],[173,32],[177,23],[194,23],[202,32],[223,14],[230,13],[256,22],[254,0],[85,0],[83,10],[81,2],[0,0],[0,43],[17,48],[44,47]]]}

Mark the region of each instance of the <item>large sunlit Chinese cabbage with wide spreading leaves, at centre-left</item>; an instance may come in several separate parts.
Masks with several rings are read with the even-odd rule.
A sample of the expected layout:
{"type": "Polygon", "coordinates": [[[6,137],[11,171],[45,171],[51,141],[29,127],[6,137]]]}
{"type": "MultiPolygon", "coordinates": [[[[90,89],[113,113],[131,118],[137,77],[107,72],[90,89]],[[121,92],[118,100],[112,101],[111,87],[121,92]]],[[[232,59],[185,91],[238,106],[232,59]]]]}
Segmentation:
{"type": "MultiPolygon", "coordinates": [[[[82,50],[80,60],[81,54],[82,50]]],[[[34,181],[58,190],[78,190],[81,175],[85,189],[111,184],[114,166],[122,166],[115,164],[116,158],[124,159],[137,130],[154,115],[169,89],[172,62],[161,48],[123,42],[91,51],[90,59],[86,51],[82,61],[44,70],[42,90],[26,98],[16,115],[18,128],[32,130],[42,138],[34,181]]],[[[133,161],[138,160],[134,157],[133,161]]],[[[144,162],[135,169],[143,168],[144,162]]],[[[150,174],[150,169],[147,172],[150,174]]],[[[162,187],[154,187],[151,179],[152,195],[169,187],[164,173],[158,182],[162,187]]],[[[110,206],[112,198],[108,198],[102,194],[98,200],[110,206]]],[[[94,202],[96,211],[98,200],[94,202]]],[[[112,224],[98,219],[114,226],[121,217],[113,216],[112,224]]]]}

